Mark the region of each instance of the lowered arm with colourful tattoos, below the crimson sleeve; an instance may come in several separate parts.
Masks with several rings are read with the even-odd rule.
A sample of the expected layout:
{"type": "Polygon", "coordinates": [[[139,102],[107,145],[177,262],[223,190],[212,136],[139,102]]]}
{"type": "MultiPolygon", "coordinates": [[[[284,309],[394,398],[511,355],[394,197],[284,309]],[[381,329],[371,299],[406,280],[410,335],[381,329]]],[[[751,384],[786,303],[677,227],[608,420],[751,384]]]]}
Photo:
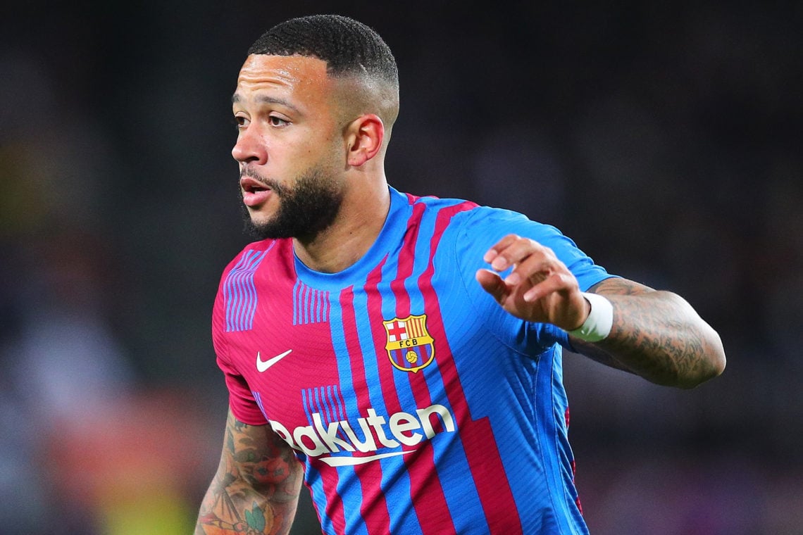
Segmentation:
{"type": "Polygon", "coordinates": [[[303,468],[290,446],[269,426],[243,424],[229,411],[220,464],[202,501],[195,535],[289,533],[302,479],[303,468]]]}

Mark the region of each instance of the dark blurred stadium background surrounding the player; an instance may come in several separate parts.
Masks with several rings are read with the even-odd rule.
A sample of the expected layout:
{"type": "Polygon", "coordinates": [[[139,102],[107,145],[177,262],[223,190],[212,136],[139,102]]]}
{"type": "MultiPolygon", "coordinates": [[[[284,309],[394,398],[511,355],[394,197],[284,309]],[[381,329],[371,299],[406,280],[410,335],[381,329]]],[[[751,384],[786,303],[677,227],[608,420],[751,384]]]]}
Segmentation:
{"type": "Polygon", "coordinates": [[[317,12],[396,55],[393,186],[557,225],[722,335],[693,391],[566,355],[591,532],[803,533],[801,2],[2,10],[3,535],[191,533],[226,415],[210,310],[247,242],[230,95],[263,30],[317,12]]]}

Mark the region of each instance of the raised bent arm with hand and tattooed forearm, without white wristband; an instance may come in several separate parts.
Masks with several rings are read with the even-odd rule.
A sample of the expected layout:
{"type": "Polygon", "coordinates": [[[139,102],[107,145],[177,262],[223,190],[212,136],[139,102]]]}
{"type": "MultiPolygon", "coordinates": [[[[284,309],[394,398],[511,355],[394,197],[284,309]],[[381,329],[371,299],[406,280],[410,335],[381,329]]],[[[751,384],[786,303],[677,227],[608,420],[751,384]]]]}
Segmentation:
{"type": "MultiPolygon", "coordinates": [[[[509,235],[485,255],[492,270],[477,280],[510,314],[570,331],[589,317],[591,305],[577,279],[551,249],[509,235]],[[496,272],[513,270],[502,280],[496,272]]],[[[613,326],[599,342],[570,336],[582,355],[631,371],[653,383],[691,388],[722,373],[725,353],[719,335],[676,294],[621,278],[599,282],[590,292],[613,305],[613,326]]]]}

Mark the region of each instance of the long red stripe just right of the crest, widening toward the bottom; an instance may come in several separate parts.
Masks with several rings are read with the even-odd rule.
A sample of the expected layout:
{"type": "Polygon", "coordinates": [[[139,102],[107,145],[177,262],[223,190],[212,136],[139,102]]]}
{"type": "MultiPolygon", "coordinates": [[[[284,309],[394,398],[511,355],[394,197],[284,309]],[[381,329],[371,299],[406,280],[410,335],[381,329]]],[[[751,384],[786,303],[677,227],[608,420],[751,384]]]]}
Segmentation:
{"type": "MultiPolygon", "coordinates": [[[[435,294],[431,284],[434,275],[433,257],[451,218],[455,214],[475,208],[475,206],[474,203],[464,202],[448,209],[442,209],[438,213],[438,218],[435,221],[435,231],[430,241],[430,263],[418,279],[418,287],[421,288],[424,296],[424,307],[428,312],[427,329],[430,331],[432,338],[440,341],[438,351],[446,350],[449,351],[449,354],[450,348],[446,344],[446,331],[443,328],[438,296],[435,294]]],[[[448,357],[450,356],[448,355],[448,357]]],[[[460,435],[463,440],[463,449],[466,452],[469,470],[474,479],[479,501],[482,504],[491,533],[502,533],[499,530],[500,526],[490,521],[491,518],[498,518],[500,516],[499,512],[502,511],[505,512],[503,513],[503,521],[506,524],[503,533],[505,535],[522,533],[520,519],[516,522],[517,525],[515,527],[509,526],[512,521],[511,515],[517,515],[518,512],[515,506],[512,507],[512,504],[515,504],[513,492],[507,477],[505,477],[499,449],[496,448],[495,440],[491,440],[493,436],[491,424],[487,418],[471,419],[457,368],[454,366],[454,360],[448,357],[443,359],[440,358],[439,354],[435,355],[435,358],[438,359],[438,367],[443,378],[446,396],[454,411],[455,418],[458,422],[470,422],[470,424],[463,424],[460,428],[460,435]],[[487,477],[483,476],[483,474],[488,473],[495,474],[495,480],[488,480],[487,477]]]]}

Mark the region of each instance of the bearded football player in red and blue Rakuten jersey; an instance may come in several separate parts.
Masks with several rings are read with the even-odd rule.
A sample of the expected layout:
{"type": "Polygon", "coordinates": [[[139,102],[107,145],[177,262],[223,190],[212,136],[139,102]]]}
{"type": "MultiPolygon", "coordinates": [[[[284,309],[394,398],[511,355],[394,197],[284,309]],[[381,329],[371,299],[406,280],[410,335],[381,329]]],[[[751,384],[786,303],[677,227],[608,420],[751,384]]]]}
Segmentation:
{"type": "Polygon", "coordinates": [[[397,67],[360,22],[268,30],[232,102],[262,239],[214,304],[230,411],[196,533],[287,533],[302,480],[325,533],[587,533],[561,349],[675,387],[723,371],[678,295],[519,213],[389,187],[397,67]]]}

